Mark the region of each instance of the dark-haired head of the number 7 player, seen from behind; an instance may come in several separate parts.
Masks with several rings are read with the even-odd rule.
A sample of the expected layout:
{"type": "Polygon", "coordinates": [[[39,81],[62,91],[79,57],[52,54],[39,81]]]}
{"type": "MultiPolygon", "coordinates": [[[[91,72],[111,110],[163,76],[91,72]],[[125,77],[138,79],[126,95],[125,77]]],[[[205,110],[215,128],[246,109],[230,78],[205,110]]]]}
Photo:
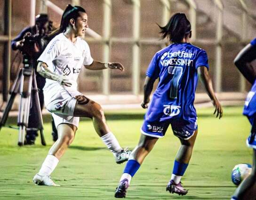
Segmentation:
{"type": "Polygon", "coordinates": [[[191,33],[191,24],[184,13],[173,15],[166,26],[160,27],[162,38],[168,37],[171,42],[181,42],[181,40],[191,33]]]}

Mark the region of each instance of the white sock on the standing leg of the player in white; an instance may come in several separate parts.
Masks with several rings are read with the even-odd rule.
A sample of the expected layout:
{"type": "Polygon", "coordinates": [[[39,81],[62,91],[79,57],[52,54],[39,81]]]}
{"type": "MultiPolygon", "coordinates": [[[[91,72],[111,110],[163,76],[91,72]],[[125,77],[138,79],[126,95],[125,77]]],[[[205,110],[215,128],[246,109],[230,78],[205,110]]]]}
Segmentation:
{"type": "Polygon", "coordinates": [[[54,155],[47,155],[38,174],[41,176],[42,175],[50,176],[50,174],[56,168],[58,162],[59,160],[54,155]]]}

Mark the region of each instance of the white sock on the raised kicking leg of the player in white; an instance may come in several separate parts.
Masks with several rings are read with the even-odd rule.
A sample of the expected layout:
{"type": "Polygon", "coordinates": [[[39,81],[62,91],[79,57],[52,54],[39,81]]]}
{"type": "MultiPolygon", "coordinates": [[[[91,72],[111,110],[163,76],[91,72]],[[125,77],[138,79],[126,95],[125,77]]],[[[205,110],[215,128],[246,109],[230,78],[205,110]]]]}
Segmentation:
{"type": "Polygon", "coordinates": [[[116,153],[119,153],[122,148],[119,145],[119,142],[117,141],[116,137],[112,132],[107,133],[106,135],[101,137],[103,143],[109,148],[109,150],[116,155],[116,153]]]}

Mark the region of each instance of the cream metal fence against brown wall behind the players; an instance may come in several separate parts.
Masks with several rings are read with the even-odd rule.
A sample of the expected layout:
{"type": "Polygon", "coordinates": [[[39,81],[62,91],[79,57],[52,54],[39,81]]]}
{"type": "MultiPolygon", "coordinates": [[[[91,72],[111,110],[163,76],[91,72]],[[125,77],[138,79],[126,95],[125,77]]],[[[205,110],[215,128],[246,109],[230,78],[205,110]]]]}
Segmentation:
{"type": "MultiPolygon", "coordinates": [[[[82,71],[81,91],[110,95],[142,92],[145,70],[153,54],[168,45],[160,40],[156,23],[165,25],[176,12],[187,14],[192,24],[192,44],[208,52],[210,74],[216,92],[245,92],[246,82],[234,69],[232,60],[239,50],[256,36],[256,8],[254,0],[0,0],[4,24],[0,29],[0,74],[3,100],[8,97],[11,78],[11,38],[23,27],[15,29],[19,21],[34,24],[35,15],[48,13],[54,24],[60,22],[68,3],[87,10],[89,26],[85,40],[92,56],[104,62],[119,61],[123,74],[109,69],[82,71]],[[19,6],[15,6],[15,5],[19,6]],[[22,6],[20,8],[20,6],[22,6]],[[231,9],[232,8],[232,9],[231,9]],[[18,11],[27,10],[23,15],[18,11]],[[25,17],[24,17],[25,16],[25,17]],[[12,23],[14,19],[15,23],[12,23]],[[24,20],[26,19],[26,21],[24,20]],[[25,21],[25,22],[24,22],[25,21]],[[29,21],[29,22],[28,22],[29,21]],[[235,24],[235,26],[232,26],[235,24]],[[94,30],[94,31],[93,31],[94,30]],[[85,76],[83,76],[85,75],[85,76]],[[86,79],[85,79],[86,78],[86,79]]],[[[199,86],[198,92],[202,91],[199,86]]]]}

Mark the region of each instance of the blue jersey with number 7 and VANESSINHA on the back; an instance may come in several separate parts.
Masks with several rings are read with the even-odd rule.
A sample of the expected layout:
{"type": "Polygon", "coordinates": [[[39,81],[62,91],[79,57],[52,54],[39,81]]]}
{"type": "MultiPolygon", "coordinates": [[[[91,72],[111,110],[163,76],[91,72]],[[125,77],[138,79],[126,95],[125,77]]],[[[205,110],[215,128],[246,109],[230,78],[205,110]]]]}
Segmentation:
{"type": "Polygon", "coordinates": [[[200,66],[208,68],[207,54],[190,43],[174,43],[157,52],[146,75],[159,78],[159,84],[145,120],[194,123],[197,115],[193,102],[198,82],[197,68],[200,66]]]}

